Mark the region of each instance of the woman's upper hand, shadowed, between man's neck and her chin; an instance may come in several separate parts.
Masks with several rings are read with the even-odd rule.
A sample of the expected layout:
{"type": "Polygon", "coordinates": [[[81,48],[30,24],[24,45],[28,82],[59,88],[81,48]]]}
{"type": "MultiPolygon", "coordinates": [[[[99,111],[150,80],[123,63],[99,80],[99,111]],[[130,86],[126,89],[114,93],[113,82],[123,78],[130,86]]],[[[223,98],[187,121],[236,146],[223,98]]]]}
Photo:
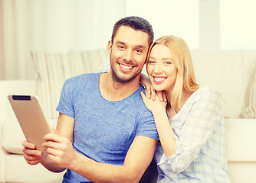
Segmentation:
{"type": "Polygon", "coordinates": [[[147,98],[152,98],[153,101],[156,100],[156,95],[158,96],[160,101],[167,101],[166,100],[166,95],[164,92],[156,92],[156,90],[153,88],[153,85],[149,81],[149,78],[144,75],[143,73],[140,75],[140,80],[139,80],[145,87],[145,93],[147,98]]]}

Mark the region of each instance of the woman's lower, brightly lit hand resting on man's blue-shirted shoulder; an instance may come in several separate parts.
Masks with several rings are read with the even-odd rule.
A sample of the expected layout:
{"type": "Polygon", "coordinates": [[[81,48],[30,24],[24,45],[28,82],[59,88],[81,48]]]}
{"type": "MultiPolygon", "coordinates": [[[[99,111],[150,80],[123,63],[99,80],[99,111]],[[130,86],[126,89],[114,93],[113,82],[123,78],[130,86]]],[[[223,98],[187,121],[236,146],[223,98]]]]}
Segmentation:
{"type": "Polygon", "coordinates": [[[159,95],[162,95],[162,92],[156,92],[156,99],[153,100],[153,98],[149,98],[146,96],[143,92],[140,92],[140,95],[143,98],[144,104],[146,105],[146,108],[148,108],[149,111],[151,111],[153,114],[159,110],[166,110],[166,101],[160,101],[159,95]]]}

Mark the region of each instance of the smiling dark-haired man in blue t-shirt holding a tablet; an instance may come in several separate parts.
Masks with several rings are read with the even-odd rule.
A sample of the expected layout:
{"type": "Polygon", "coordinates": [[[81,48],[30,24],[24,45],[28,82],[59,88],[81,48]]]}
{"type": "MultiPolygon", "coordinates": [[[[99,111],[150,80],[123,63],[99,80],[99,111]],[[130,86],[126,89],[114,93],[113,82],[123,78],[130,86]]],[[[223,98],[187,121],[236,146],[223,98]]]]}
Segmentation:
{"type": "Polygon", "coordinates": [[[117,21],[107,45],[110,72],[67,79],[57,130],[44,136],[45,153],[23,143],[28,164],[67,169],[63,182],[138,182],[159,139],[139,83],[152,42],[152,27],[143,18],[117,21]]]}

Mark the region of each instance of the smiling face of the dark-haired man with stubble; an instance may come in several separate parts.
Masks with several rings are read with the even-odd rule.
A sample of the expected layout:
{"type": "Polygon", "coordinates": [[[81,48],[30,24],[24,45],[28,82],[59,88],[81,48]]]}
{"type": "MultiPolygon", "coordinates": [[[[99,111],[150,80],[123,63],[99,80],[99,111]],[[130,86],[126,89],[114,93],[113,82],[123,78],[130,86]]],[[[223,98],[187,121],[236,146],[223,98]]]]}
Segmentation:
{"type": "Polygon", "coordinates": [[[149,48],[148,38],[147,33],[131,27],[121,26],[117,30],[113,43],[108,43],[113,79],[124,83],[139,78],[149,48]]]}

